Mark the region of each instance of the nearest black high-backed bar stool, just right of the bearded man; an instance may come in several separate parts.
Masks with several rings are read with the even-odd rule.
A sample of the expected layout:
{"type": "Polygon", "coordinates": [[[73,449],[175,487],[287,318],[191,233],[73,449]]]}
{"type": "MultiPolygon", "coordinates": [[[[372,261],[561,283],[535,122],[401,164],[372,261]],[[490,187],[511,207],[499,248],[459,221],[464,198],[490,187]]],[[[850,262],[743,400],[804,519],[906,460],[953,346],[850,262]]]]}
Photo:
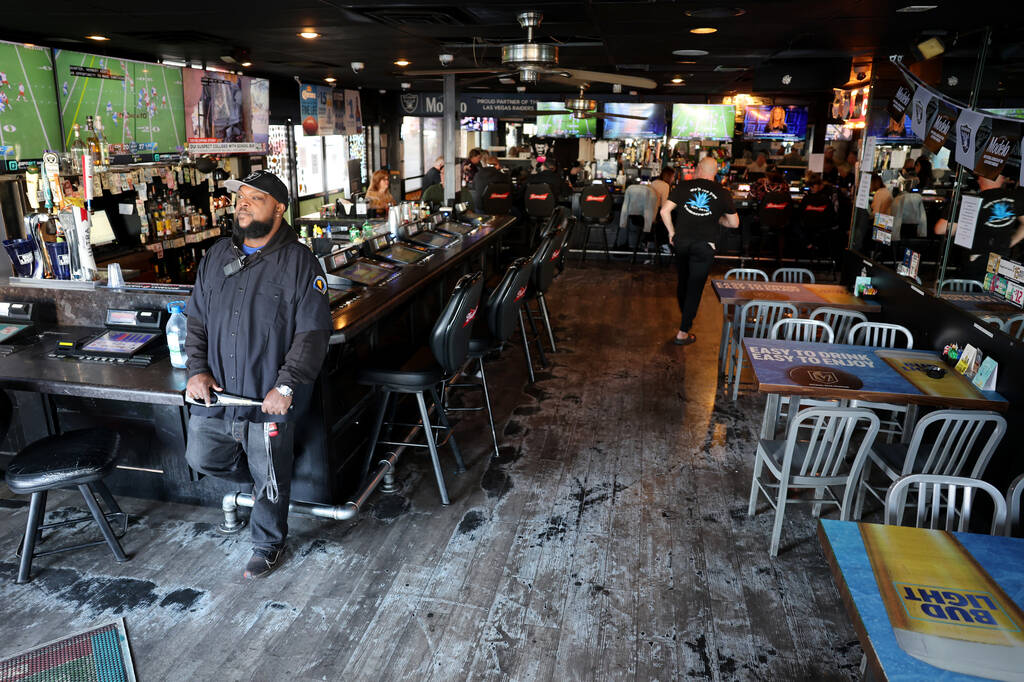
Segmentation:
{"type": "MultiPolygon", "coordinates": [[[[377,445],[394,445],[409,447],[426,447],[430,451],[430,459],[434,467],[434,477],[437,479],[437,489],[441,496],[441,504],[449,504],[447,488],[444,486],[444,474],[441,472],[440,459],[437,457],[438,443],[434,439],[434,429],[443,429],[446,434],[445,442],[452,445],[452,454],[455,457],[458,471],[466,470],[463,464],[462,454],[455,441],[452,425],[449,423],[447,415],[444,413],[444,404],[437,395],[437,385],[443,383],[454,376],[469,354],[469,339],[473,331],[473,318],[476,316],[477,307],[480,304],[480,294],[483,291],[483,274],[473,272],[464,274],[455,286],[452,297],[447,305],[434,323],[430,332],[428,344],[417,351],[411,358],[394,367],[390,364],[383,364],[368,367],[360,370],[355,375],[355,380],[364,386],[373,386],[384,392],[380,410],[374,424],[373,434],[370,438],[370,451],[367,453],[367,461],[362,466],[362,477],[366,478],[373,462],[374,451],[377,445]],[[422,420],[423,433],[426,443],[397,442],[393,440],[381,440],[381,428],[384,426],[384,417],[388,413],[393,393],[412,393],[416,395],[416,401],[420,409],[420,419],[422,420]],[[427,410],[426,394],[430,393],[433,399],[434,409],[437,411],[437,419],[440,424],[433,424],[430,419],[430,412],[427,410]]],[[[393,407],[392,407],[393,412],[393,407]]],[[[388,427],[401,426],[391,423],[388,427]]],[[[419,426],[419,425],[407,425],[419,426]]]]}

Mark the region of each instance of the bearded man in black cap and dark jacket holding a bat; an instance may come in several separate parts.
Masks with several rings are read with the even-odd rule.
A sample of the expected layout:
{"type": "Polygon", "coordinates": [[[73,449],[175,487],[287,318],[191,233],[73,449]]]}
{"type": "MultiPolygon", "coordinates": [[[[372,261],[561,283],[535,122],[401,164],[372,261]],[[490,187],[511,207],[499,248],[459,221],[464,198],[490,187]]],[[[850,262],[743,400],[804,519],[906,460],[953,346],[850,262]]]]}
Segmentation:
{"type": "Polygon", "coordinates": [[[185,391],[207,407],[191,409],[185,458],[202,473],[255,484],[244,574],[259,578],[283,558],[295,419],[327,355],[331,312],[324,270],[285,222],[285,184],[257,171],[225,185],[237,193],[234,233],[203,258],[188,301],[185,391]],[[262,406],[218,407],[220,391],[262,406]]]}

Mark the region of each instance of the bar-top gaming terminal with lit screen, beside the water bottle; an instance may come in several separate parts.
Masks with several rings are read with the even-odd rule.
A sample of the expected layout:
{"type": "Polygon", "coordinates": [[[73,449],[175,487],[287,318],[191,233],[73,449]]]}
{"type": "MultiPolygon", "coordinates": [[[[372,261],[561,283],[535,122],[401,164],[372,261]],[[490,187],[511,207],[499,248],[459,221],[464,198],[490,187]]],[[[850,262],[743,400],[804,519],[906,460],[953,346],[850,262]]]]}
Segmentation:
{"type": "Polygon", "coordinates": [[[109,308],[103,330],[75,340],[57,341],[49,354],[80,363],[113,363],[148,367],[167,354],[164,310],[109,308]]]}

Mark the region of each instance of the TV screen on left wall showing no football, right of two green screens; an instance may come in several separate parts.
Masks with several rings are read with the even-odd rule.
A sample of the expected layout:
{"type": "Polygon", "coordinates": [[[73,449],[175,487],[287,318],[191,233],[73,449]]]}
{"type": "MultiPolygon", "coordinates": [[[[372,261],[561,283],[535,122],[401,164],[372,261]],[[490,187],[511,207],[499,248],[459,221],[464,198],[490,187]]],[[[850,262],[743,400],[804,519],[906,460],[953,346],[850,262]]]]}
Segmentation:
{"type": "Polygon", "coordinates": [[[182,71],[185,139],[193,154],[265,154],[270,82],[219,71],[182,71]]]}

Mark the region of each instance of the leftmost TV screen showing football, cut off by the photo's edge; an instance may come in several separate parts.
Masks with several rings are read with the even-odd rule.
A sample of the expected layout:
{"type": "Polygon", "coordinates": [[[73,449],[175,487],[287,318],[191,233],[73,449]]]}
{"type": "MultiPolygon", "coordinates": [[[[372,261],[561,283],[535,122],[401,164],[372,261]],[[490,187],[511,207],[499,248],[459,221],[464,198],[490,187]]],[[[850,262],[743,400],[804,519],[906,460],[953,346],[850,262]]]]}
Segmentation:
{"type": "Polygon", "coordinates": [[[0,41],[0,170],[60,151],[57,93],[50,51],[0,41]]]}

